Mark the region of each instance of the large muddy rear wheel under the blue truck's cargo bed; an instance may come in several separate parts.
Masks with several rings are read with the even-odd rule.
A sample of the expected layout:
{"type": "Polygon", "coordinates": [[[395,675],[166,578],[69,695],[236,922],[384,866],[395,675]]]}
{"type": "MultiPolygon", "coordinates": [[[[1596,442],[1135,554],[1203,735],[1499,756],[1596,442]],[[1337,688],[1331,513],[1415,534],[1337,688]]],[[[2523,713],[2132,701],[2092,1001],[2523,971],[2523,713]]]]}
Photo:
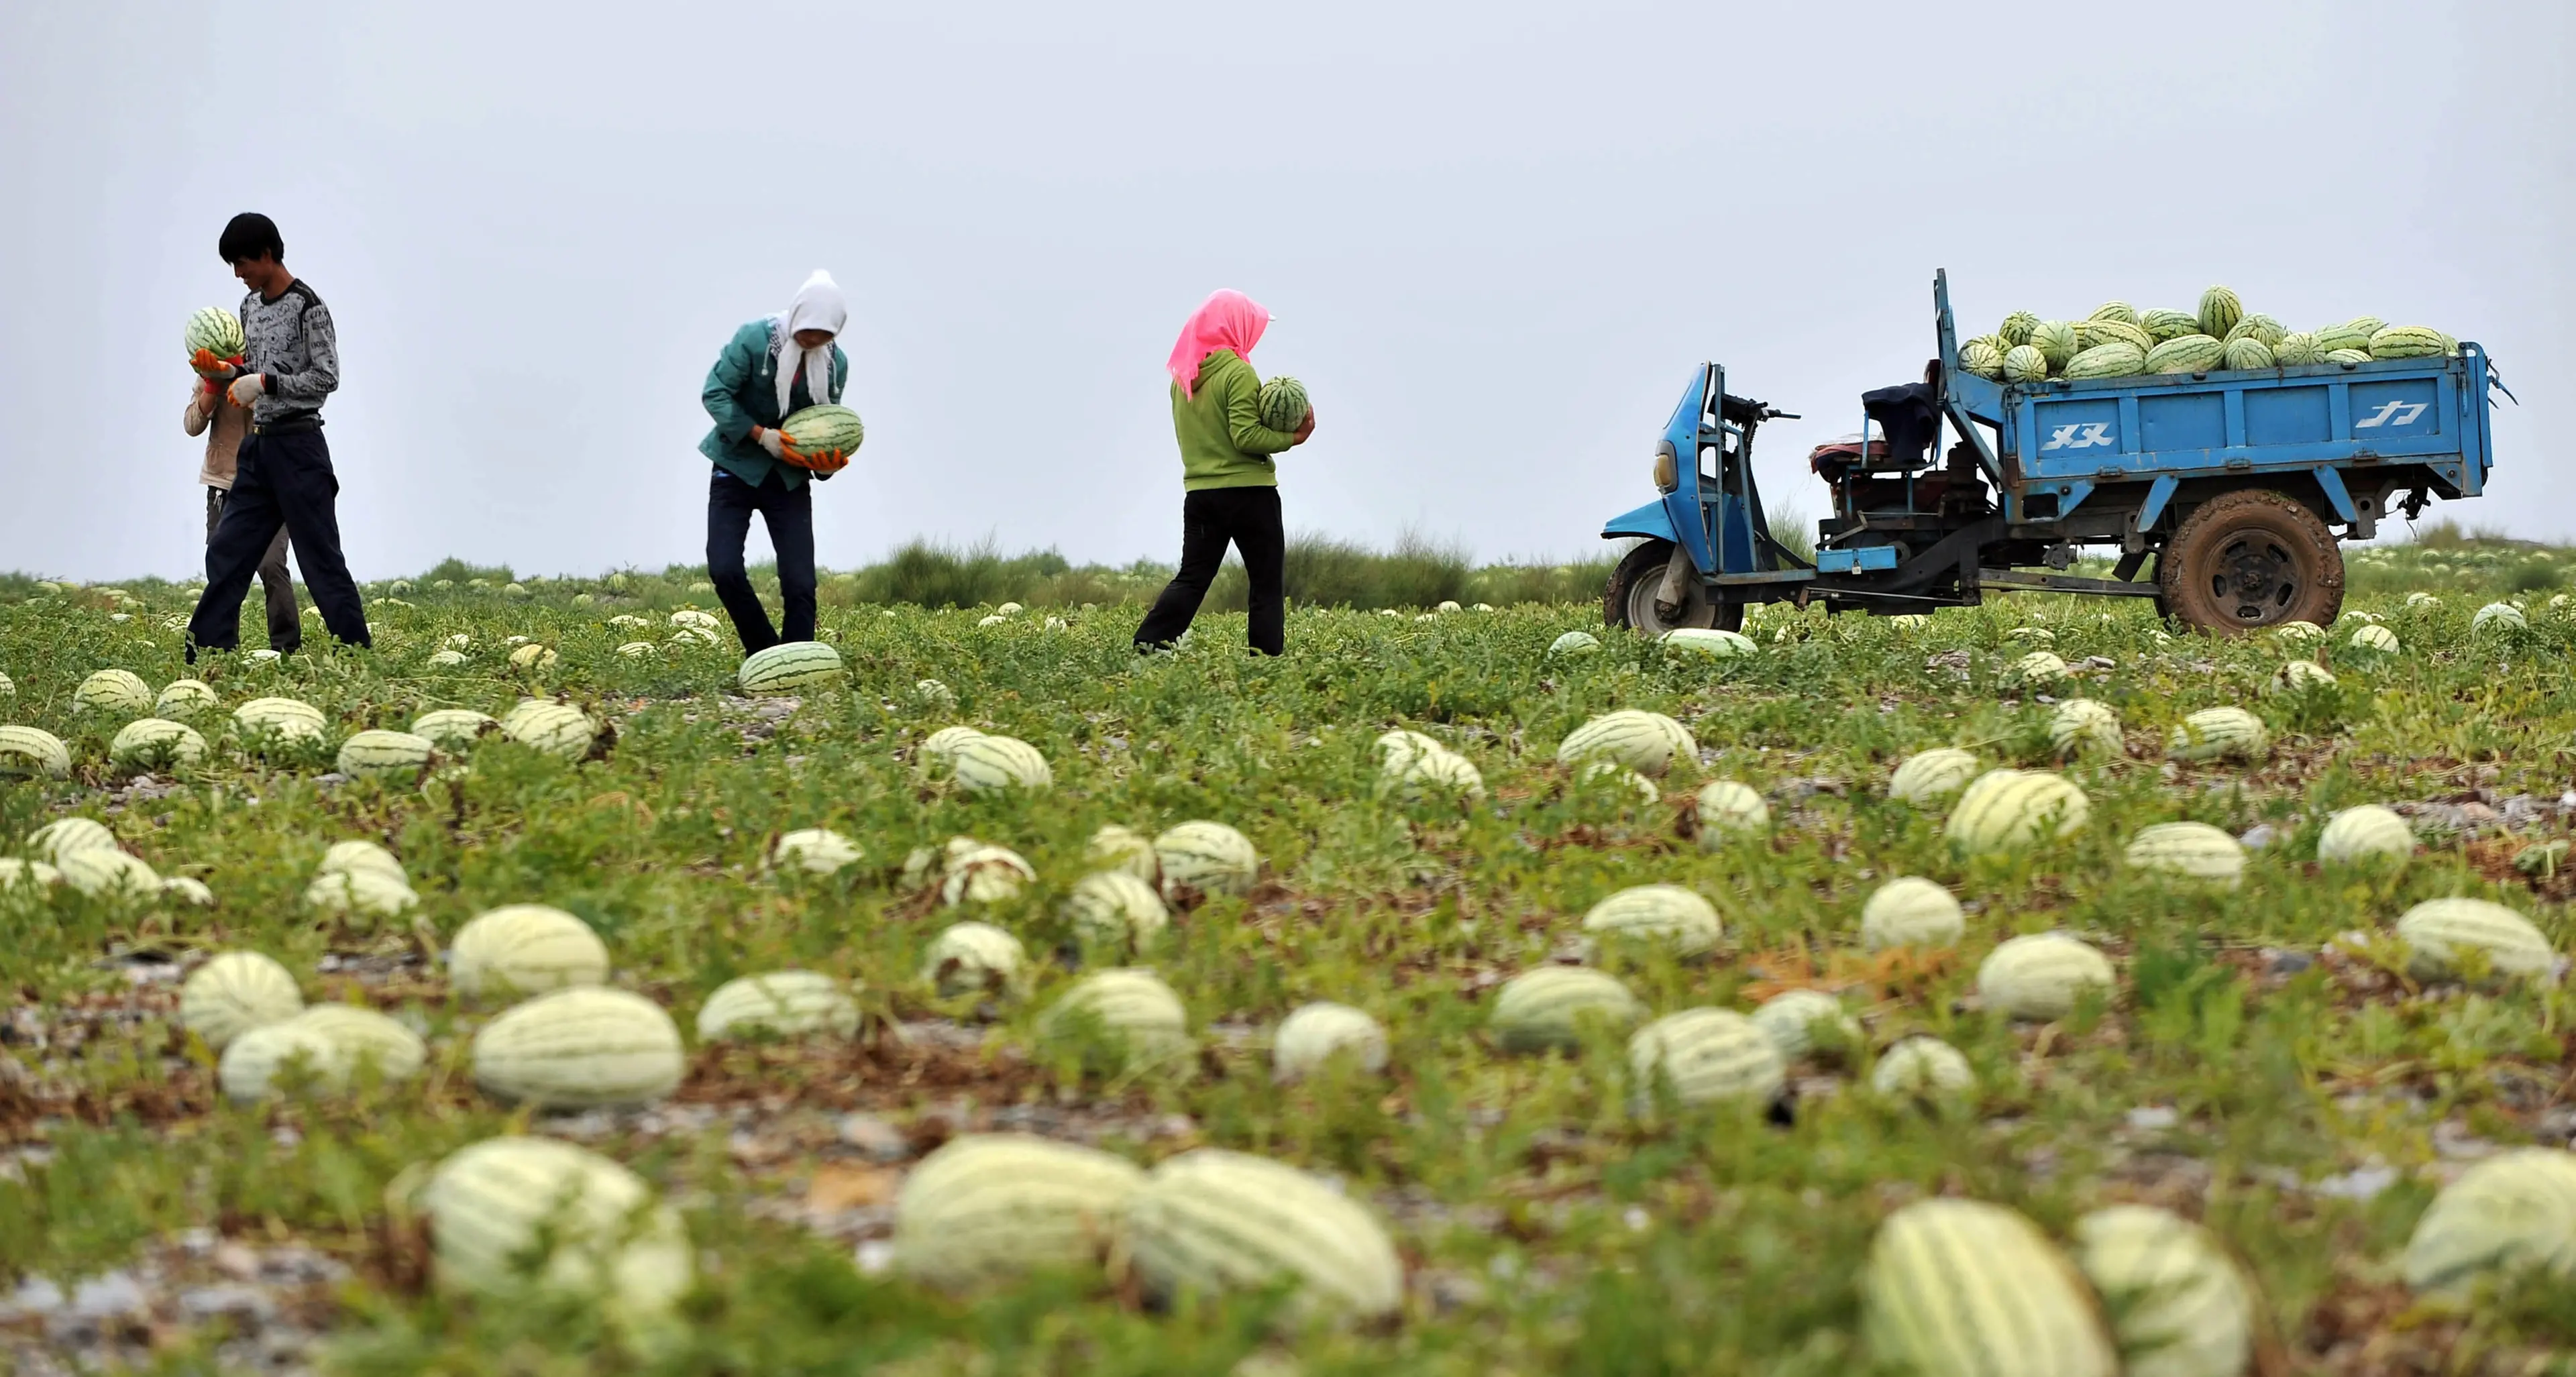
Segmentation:
{"type": "Polygon", "coordinates": [[[2202,631],[2331,625],[2344,610],[2344,551],[2295,497],[2239,489],[2182,517],[2156,556],[2156,587],[2164,610],[2202,631]]]}

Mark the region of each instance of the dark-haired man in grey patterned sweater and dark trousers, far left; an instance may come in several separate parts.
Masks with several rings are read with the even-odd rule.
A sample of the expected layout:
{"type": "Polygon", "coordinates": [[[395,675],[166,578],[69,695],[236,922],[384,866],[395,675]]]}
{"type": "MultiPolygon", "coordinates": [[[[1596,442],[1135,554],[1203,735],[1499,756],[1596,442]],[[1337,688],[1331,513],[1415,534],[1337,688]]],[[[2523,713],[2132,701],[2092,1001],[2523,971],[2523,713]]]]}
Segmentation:
{"type": "Polygon", "coordinates": [[[322,625],[343,643],[371,646],[366,605],[340,556],[340,479],[322,440],[322,399],[340,386],[330,306],[286,270],[286,242],[268,216],[232,216],[216,252],[250,288],[242,299],[242,368],[214,373],[229,384],[227,402],[250,409],[250,438],[234,461],[224,515],[206,541],[206,595],[188,618],[188,661],[196,664],[196,651],[242,643],[242,595],[278,528],[294,538],[322,625]]]}

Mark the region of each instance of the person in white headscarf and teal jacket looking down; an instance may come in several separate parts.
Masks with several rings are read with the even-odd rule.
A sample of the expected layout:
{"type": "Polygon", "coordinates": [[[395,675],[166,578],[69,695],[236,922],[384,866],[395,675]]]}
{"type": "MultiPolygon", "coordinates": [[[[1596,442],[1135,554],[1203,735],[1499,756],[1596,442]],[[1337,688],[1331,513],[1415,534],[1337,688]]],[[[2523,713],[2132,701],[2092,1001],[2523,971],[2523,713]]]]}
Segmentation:
{"type": "Polygon", "coordinates": [[[706,371],[701,399],[716,420],[706,440],[698,440],[698,453],[716,466],[706,489],[706,577],[716,584],[724,615],[734,618],[742,654],[814,638],[814,489],[806,479],[829,479],[850,456],[804,453],[778,422],[806,407],[840,402],[850,355],[832,340],[848,319],[840,286],[817,268],[786,311],[737,329],[706,371]],[[814,378],[824,378],[819,396],[814,378]],[[786,602],[781,628],[770,628],[752,577],[742,569],[752,512],[760,512],[778,551],[778,592],[786,602]]]}

